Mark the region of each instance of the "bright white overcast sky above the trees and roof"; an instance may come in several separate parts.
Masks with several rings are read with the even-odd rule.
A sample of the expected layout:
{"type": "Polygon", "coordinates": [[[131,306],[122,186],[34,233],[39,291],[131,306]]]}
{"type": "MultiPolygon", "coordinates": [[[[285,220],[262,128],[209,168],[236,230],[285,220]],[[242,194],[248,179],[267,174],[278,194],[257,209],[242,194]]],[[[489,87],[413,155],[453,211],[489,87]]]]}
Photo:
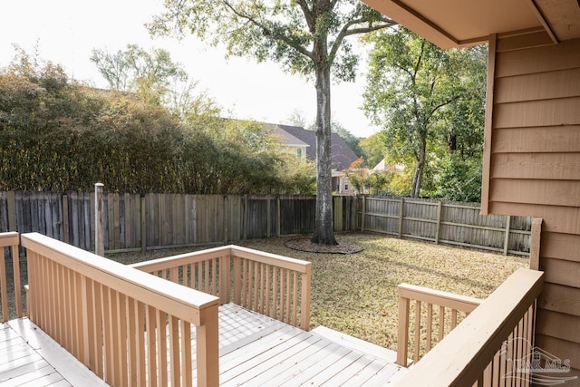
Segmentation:
{"type": "MultiPolygon", "coordinates": [[[[143,24],[161,9],[162,0],[3,0],[0,66],[13,58],[12,44],[33,53],[38,43],[41,58],[62,64],[70,77],[106,87],[89,60],[93,48],[110,52],[127,44],[139,44],[147,50],[164,48],[174,62],[184,65],[191,79],[198,81],[199,91],[207,91],[234,118],[290,123],[291,114],[300,111],[308,123],[314,121],[314,84],[282,72],[276,63],[246,58],[226,61],[222,51],[191,37],[182,42],[151,39],[143,24]]],[[[362,64],[365,62],[362,58],[362,64]]],[[[363,84],[360,73],[357,82],[333,84],[332,89],[333,121],[358,137],[377,131],[359,109],[363,84]]]]}

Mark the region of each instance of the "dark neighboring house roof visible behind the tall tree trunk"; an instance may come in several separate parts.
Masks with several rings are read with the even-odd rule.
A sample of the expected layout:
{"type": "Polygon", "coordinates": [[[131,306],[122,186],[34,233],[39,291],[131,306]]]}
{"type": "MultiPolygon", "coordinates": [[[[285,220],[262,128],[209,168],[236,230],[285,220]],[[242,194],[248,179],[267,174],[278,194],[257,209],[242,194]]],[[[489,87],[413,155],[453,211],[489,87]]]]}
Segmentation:
{"type": "MultiPolygon", "coordinates": [[[[291,125],[277,125],[277,127],[281,131],[285,131],[292,137],[308,144],[308,148],[306,148],[306,158],[309,160],[316,160],[316,134],[314,131],[308,131],[300,126],[291,125]]],[[[358,157],[338,134],[332,133],[330,140],[332,169],[348,169],[351,163],[353,163],[354,160],[357,160],[358,157]]]]}

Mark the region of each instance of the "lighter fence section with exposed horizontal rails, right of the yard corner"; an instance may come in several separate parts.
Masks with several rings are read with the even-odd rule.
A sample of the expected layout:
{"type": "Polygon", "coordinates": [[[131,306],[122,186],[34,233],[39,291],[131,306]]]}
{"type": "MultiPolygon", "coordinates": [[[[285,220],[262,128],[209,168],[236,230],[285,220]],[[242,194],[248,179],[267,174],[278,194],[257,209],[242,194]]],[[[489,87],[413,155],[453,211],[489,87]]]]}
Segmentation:
{"type": "Polygon", "coordinates": [[[481,215],[478,204],[362,197],[362,231],[529,256],[532,218],[481,215]]]}

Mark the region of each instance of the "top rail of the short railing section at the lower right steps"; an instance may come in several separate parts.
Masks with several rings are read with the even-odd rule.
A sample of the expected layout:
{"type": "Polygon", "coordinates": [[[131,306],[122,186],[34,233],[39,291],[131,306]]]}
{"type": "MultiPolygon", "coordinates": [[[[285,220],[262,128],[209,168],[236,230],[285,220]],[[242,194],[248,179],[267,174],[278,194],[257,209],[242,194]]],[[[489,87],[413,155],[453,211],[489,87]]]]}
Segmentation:
{"type": "Polygon", "coordinates": [[[397,286],[400,297],[418,300],[433,305],[445,306],[457,309],[461,312],[471,313],[483,300],[467,295],[456,295],[442,290],[430,289],[428,287],[401,284],[397,286]]]}

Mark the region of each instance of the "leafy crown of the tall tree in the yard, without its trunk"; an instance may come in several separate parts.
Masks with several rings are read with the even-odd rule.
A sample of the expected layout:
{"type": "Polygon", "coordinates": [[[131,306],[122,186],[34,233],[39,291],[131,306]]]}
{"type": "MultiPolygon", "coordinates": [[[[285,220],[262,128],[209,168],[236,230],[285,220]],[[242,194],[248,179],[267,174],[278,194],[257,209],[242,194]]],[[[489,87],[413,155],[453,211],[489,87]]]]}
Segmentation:
{"type": "Polygon", "coordinates": [[[167,0],[165,7],[148,24],[152,34],[194,34],[209,44],[226,44],[228,55],[274,60],[285,71],[306,76],[314,76],[317,62],[323,61],[344,81],[354,79],[358,62],[344,38],[392,24],[358,0],[167,0]],[[318,44],[324,50],[318,52],[318,44]]]}

